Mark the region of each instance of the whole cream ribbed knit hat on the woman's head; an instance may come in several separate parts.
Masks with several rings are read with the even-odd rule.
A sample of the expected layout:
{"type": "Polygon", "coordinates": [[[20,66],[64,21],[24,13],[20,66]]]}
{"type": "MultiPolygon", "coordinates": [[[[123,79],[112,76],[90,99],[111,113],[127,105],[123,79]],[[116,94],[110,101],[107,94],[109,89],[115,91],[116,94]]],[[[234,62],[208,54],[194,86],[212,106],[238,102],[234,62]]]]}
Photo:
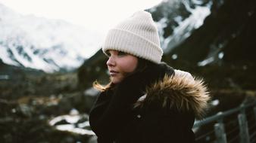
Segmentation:
{"type": "Polygon", "coordinates": [[[161,62],[158,29],[146,11],[137,11],[108,32],[102,50],[120,50],[151,62],[161,62]]]}

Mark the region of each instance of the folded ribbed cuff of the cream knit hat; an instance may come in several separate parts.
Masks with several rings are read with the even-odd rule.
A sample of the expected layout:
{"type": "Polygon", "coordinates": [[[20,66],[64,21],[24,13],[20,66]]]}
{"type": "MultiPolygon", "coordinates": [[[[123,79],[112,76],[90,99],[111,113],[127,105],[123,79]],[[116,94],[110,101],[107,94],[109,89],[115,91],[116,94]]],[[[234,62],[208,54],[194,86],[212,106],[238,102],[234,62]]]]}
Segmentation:
{"type": "Polygon", "coordinates": [[[107,50],[120,50],[155,63],[161,62],[163,54],[161,47],[158,47],[158,45],[123,29],[111,29],[102,50],[105,54],[107,50]]]}

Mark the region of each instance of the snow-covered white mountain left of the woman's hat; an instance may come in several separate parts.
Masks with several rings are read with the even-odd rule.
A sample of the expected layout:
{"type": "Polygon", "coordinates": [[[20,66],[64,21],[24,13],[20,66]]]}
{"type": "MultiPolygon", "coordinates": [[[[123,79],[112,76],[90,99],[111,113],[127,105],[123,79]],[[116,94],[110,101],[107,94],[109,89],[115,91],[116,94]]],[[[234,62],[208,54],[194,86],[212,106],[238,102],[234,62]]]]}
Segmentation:
{"type": "Polygon", "coordinates": [[[101,36],[64,20],[17,14],[0,4],[0,59],[9,65],[58,71],[77,68],[101,36]]]}

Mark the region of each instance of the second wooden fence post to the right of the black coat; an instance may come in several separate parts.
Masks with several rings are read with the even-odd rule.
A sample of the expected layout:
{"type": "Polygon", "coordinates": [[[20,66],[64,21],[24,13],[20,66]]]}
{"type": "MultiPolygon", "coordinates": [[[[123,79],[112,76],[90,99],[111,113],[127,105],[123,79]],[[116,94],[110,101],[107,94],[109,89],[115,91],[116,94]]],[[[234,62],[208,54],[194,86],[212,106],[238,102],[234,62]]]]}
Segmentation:
{"type": "Polygon", "coordinates": [[[249,143],[250,137],[248,132],[248,124],[245,114],[239,114],[240,142],[249,143]]]}

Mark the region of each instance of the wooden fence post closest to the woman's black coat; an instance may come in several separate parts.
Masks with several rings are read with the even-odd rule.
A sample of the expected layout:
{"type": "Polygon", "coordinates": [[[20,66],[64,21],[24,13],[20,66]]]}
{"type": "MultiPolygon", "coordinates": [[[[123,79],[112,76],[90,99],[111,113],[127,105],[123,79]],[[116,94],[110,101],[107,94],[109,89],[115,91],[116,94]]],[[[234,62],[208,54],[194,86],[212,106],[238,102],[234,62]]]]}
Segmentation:
{"type": "Polygon", "coordinates": [[[217,138],[217,143],[226,143],[226,133],[223,123],[215,123],[214,131],[217,138]]]}

